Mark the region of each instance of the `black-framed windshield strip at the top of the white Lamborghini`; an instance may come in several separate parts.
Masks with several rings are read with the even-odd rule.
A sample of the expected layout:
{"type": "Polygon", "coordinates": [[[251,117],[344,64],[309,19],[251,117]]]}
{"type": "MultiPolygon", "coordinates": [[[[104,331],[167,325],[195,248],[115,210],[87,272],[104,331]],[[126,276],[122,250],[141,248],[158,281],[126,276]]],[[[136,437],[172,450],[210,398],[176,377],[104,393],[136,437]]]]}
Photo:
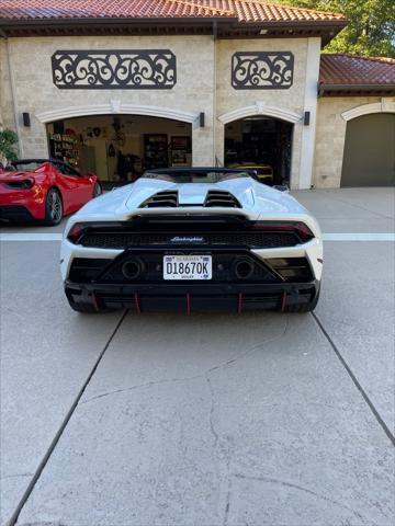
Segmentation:
{"type": "Polygon", "coordinates": [[[193,170],[169,170],[168,172],[145,172],[145,179],[158,179],[159,181],[168,181],[171,183],[221,183],[222,181],[230,181],[233,179],[251,178],[249,172],[219,172],[219,171],[193,171],[193,170]]]}

